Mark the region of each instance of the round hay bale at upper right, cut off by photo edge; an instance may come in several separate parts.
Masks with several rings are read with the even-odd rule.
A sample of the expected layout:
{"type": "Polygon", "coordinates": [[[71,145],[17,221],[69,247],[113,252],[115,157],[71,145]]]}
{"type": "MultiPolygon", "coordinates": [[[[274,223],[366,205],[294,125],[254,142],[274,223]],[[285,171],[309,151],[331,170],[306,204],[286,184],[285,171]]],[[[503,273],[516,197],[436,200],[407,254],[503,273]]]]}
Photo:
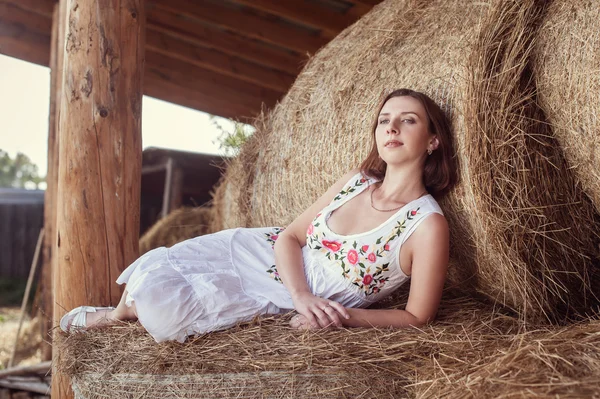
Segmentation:
{"type": "Polygon", "coordinates": [[[557,0],[537,35],[540,104],[570,167],[600,212],[600,4],[557,0]]]}

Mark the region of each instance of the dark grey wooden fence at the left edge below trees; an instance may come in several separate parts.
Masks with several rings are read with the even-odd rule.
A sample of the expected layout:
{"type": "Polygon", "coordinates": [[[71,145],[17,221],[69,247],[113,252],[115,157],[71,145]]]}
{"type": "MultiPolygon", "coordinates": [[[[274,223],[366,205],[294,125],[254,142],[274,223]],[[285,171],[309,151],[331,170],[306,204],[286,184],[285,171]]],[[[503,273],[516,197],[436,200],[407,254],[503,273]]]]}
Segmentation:
{"type": "Polygon", "coordinates": [[[0,278],[27,279],[43,223],[43,191],[0,189],[0,278]]]}

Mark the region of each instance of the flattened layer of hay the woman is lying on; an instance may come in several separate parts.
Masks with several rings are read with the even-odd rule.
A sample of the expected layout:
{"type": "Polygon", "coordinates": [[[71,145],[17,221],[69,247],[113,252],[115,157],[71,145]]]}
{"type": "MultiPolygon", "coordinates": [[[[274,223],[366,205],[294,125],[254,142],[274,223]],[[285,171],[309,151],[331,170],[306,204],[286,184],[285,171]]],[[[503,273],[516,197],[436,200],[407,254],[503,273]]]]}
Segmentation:
{"type": "Polygon", "coordinates": [[[524,332],[491,304],[451,292],[442,303],[437,321],[420,329],[298,331],[284,315],[183,344],[156,344],[123,323],[61,333],[55,345],[59,368],[86,399],[600,394],[598,318],[524,332]]]}

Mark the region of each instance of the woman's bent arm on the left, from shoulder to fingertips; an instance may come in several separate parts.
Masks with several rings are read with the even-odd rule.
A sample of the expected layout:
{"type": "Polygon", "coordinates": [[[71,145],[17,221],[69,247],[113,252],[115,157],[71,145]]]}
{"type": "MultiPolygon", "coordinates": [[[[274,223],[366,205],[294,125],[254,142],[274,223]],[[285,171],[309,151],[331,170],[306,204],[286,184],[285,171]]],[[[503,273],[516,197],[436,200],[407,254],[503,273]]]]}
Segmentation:
{"type": "Polygon", "coordinates": [[[275,264],[279,276],[290,292],[294,307],[313,327],[326,327],[332,323],[341,326],[339,315],[348,312],[339,303],[316,297],[310,291],[304,276],[302,247],[306,245],[306,230],[316,215],[342,190],[344,185],[360,170],[353,169],[333,184],[317,201],[298,216],[275,241],[275,264]]]}

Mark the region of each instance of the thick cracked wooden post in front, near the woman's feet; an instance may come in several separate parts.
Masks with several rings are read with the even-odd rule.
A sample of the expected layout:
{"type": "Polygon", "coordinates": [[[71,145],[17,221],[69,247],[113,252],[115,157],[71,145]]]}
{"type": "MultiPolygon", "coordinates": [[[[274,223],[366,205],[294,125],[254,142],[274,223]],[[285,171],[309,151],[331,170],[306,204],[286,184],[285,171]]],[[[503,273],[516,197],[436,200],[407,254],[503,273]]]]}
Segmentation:
{"type": "MultiPolygon", "coordinates": [[[[67,0],[56,324],[80,305],[116,305],[121,289],[115,280],[138,256],[144,3],[67,0]]],[[[56,368],[52,380],[52,397],[73,397],[56,368]]]]}

